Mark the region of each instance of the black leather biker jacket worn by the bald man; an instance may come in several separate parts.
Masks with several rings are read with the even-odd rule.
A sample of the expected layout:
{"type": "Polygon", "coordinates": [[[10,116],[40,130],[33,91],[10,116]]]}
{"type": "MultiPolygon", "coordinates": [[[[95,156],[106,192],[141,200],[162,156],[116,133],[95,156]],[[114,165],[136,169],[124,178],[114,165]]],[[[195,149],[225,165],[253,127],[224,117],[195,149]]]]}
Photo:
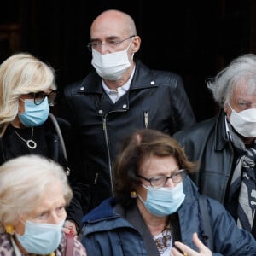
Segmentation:
{"type": "Polygon", "coordinates": [[[90,209],[113,195],[112,166],[124,137],[145,127],[172,135],[195,124],[182,79],[175,73],[150,70],[140,61],[130,90],[115,104],[93,71],[65,88],[62,107],[61,115],[77,136],[74,141],[82,161],[74,178],[90,187],[87,195],[80,196],[84,213],[89,200],[90,209]]]}

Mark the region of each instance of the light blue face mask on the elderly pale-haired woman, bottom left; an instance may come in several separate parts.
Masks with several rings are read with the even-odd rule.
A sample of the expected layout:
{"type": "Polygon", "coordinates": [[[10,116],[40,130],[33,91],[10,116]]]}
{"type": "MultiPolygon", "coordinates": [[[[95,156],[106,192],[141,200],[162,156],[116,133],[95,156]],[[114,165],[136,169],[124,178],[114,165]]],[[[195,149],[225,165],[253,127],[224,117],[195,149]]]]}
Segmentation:
{"type": "Polygon", "coordinates": [[[23,236],[16,235],[22,247],[27,253],[48,254],[55,251],[61,242],[62,226],[60,224],[42,224],[26,221],[23,236]]]}

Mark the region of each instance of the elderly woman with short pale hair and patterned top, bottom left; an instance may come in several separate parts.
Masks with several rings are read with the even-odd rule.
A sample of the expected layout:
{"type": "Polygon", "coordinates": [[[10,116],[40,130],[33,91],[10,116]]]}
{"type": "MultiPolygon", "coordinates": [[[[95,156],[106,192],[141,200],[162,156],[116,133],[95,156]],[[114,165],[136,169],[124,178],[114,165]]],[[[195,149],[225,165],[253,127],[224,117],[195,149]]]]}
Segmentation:
{"type": "Polygon", "coordinates": [[[62,232],[72,196],[53,160],[31,154],[0,166],[0,255],[86,255],[75,236],[67,243],[62,232]]]}

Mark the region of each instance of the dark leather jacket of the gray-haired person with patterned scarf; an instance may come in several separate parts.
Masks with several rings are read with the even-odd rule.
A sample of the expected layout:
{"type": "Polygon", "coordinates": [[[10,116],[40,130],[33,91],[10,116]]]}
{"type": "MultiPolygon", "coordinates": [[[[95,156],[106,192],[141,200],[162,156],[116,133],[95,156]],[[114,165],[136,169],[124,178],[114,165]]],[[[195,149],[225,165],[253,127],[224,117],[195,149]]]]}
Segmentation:
{"type": "Polygon", "coordinates": [[[224,203],[232,172],[233,148],[226,134],[224,111],[173,135],[189,160],[197,161],[198,171],[191,177],[202,194],[224,203]]]}

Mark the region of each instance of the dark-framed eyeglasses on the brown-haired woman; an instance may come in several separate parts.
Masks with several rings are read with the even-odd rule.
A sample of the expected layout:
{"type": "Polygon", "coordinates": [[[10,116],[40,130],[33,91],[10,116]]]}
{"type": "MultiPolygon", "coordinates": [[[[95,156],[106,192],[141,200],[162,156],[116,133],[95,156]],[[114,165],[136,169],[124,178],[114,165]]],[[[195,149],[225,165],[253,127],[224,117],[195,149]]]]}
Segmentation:
{"type": "Polygon", "coordinates": [[[181,169],[177,172],[172,173],[170,176],[157,176],[157,177],[143,177],[141,175],[137,175],[137,177],[141,177],[144,180],[146,180],[148,183],[150,183],[150,186],[153,188],[161,188],[164,187],[168,181],[169,178],[172,178],[173,183],[180,183],[183,181],[183,178],[186,176],[186,170],[181,169]]]}

